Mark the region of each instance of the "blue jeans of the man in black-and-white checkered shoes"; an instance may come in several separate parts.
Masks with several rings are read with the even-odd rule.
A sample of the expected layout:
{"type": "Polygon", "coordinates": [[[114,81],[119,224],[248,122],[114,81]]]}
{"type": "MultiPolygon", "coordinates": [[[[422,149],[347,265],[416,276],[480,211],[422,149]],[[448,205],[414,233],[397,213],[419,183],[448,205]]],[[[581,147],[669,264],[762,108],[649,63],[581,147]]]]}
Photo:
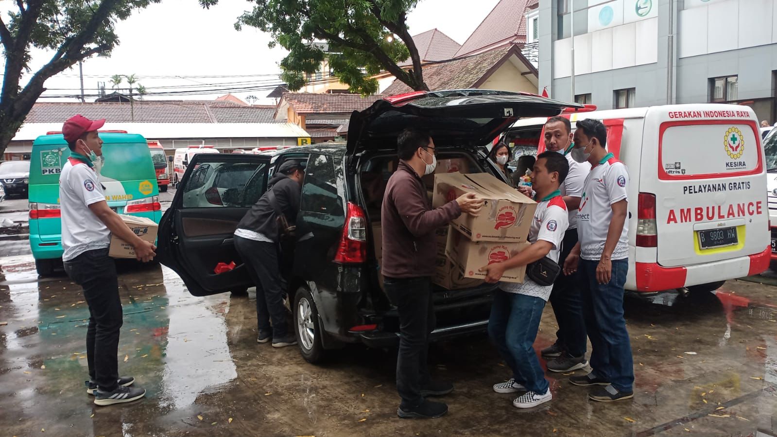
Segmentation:
{"type": "Polygon", "coordinates": [[[545,372],[539,365],[534,341],[545,301],[528,295],[494,292],[488,333],[516,383],[538,394],[548,392],[545,372]]]}

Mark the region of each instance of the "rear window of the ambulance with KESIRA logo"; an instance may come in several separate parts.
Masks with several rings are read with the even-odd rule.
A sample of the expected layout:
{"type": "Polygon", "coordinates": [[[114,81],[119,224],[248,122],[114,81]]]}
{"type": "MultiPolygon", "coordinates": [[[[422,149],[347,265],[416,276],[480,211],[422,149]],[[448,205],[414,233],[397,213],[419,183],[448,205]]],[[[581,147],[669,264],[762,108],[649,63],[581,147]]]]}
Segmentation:
{"type": "Polygon", "coordinates": [[[740,176],[758,170],[761,151],[749,124],[664,124],[660,130],[661,179],[740,176]]]}

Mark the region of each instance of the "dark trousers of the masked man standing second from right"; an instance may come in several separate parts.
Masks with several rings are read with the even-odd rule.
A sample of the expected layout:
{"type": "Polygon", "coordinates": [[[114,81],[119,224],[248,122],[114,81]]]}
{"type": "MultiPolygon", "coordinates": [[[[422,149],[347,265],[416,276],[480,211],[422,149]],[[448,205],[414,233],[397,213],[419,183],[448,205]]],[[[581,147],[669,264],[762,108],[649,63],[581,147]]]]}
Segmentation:
{"type": "MultiPolygon", "coordinates": [[[[577,229],[567,229],[564,234],[563,246],[559,254],[559,265],[564,266],[564,260],[577,244],[577,229]]],[[[556,344],[561,344],[566,353],[573,357],[585,355],[586,330],[583,319],[583,302],[580,299],[580,286],[577,275],[559,274],[550,292],[550,305],[559,330],[556,331],[556,344]]]]}

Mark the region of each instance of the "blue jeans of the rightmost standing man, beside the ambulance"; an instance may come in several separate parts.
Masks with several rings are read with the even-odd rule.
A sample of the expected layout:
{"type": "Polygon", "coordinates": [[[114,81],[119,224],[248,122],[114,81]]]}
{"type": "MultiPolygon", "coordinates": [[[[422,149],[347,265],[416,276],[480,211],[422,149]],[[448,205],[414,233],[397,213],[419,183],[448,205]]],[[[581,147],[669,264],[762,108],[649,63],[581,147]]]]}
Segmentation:
{"type": "Polygon", "coordinates": [[[634,362],[629,332],[623,318],[623,285],[629,260],[612,260],[607,284],[596,280],[599,261],[580,260],[578,278],[583,318],[591,339],[591,369],[618,391],[632,391],[634,362]]]}

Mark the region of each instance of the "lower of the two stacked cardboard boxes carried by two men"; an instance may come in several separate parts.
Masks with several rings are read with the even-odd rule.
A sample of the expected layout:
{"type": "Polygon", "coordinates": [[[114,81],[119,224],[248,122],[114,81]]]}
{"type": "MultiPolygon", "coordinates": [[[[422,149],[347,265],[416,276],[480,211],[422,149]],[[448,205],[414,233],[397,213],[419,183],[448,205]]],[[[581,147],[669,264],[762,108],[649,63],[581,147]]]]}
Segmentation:
{"type": "MultiPolygon", "coordinates": [[[[508,260],[528,246],[531,246],[531,243],[470,241],[462,232],[451,230],[445,254],[453,261],[462,277],[485,279],[486,274],[479,271],[480,267],[508,260]]],[[[514,267],[505,271],[501,280],[523,282],[525,274],[526,266],[514,267]]]]}

